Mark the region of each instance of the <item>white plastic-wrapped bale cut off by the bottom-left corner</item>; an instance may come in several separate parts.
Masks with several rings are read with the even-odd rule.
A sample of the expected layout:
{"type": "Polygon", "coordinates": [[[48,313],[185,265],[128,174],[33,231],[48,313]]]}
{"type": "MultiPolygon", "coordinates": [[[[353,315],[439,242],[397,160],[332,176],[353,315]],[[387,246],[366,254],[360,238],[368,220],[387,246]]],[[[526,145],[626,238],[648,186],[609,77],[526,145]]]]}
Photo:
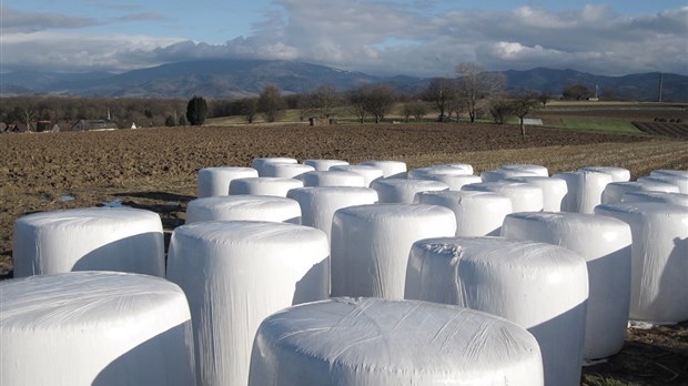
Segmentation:
{"type": "Polygon", "coordinates": [[[193,385],[179,286],[149,275],[71,272],[0,282],[1,385],[193,385]]]}

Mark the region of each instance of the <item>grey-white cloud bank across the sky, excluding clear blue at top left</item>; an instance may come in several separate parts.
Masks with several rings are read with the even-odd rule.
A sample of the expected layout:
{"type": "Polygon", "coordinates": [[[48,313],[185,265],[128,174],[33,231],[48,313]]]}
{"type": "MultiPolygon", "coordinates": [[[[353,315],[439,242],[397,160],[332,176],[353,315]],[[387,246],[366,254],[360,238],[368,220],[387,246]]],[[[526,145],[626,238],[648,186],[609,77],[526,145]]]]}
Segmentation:
{"type": "Polygon", "coordinates": [[[222,44],[141,35],[84,37],[78,30],[55,33],[57,28],[78,28],[93,20],[9,9],[12,20],[3,31],[2,65],[123,71],[202,58],[261,58],[421,77],[454,75],[456,63],[464,61],[490,70],[550,67],[613,75],[688,73],[688,8],[630,17],[606,6],[560,12],[534,7],[447,12],[433,7],[424,0],[274,0],[249,35],[222,44]]]}

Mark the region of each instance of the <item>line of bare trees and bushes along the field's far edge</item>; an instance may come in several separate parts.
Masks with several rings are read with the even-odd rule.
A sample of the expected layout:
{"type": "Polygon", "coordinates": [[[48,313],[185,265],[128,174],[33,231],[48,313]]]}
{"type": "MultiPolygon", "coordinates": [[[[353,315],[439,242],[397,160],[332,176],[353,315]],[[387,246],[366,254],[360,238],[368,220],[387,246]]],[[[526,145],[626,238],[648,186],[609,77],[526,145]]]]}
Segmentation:
{"type": "MultiPolygon", "coordinates": [[[[506,79],[502,73],[466,62],[456,67],[455,78],[433,79],[416,94],[399,93],[386,84],[361,84],[348,91],[321,85],[306,94],[283,94],[277,85],[267,85],[257,96],[209,101],[202,95],[188,101],[18,96],[2,99],[0,121],[6,125],[22,123],[30,126],[36,121],[57,123],[107,119],[119,128],[129,128],[131,123],[178,126],[203,124],[206,118],[220,116],[242,116],[247,123],[262,116],[267,122],[275,122],[284,118],[286,110],[293,110],[297,111],[300,120],[313,116],[332,119],[337,112],[345,111],[361,123],[380,123],[391,114],[401,115],[405,121],[418,121],[434,110],[436,115],[432,119],[437,121],[465,119],[475,122],[488,116],[495,123],[504,123],[508,116],[518,116],[523,123],[524,116],[550,99],[548,94],[528,91],[507,94],[505,89],[506,79]]],[[[563,90],[566,99],[579,100],[589,95],[589,90],[581,84],[569,84],[563,90]]]]}

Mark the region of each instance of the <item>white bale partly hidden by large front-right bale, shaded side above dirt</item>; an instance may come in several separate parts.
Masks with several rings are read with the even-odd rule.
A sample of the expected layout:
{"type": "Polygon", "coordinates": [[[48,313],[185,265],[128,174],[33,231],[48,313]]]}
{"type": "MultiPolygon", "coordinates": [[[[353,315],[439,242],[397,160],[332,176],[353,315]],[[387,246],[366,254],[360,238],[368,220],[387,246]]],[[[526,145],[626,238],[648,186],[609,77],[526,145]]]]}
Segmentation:
{"type": "Polygon", "coordinates": [[[583,213],[514,213],[502,235],[563,246],[586,260],[588,311],[584,356],[597,359],[624,346],[630,301],[630,227],[607,216],[583,213]]]}

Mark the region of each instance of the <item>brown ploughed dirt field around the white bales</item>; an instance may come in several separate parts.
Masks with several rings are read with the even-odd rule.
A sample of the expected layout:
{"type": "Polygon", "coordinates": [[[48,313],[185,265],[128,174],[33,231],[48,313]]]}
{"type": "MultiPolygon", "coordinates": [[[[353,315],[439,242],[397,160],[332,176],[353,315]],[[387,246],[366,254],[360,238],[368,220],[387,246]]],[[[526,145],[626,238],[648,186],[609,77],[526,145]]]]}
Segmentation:
{"type": "MultiPolygon", "coordinates": [[[[463,162],[476,173],[537,163],[550,173],[615,165],[633,177],[688,170],[688,142],[644,135],[471,124],[304,124],[0,135],[0,278],[11,277],[12,226],[28,213],[128,205],[161,215],[169,237],[184,223],[201,167],[254,158],[399,160],[408,167],[463,162]]],[[[624,351],[584,368],[585,385],[688,385],[688,324],[629,329],[624,351]],[[615,379],[620,383],[609,383],[615,379]]]]}

